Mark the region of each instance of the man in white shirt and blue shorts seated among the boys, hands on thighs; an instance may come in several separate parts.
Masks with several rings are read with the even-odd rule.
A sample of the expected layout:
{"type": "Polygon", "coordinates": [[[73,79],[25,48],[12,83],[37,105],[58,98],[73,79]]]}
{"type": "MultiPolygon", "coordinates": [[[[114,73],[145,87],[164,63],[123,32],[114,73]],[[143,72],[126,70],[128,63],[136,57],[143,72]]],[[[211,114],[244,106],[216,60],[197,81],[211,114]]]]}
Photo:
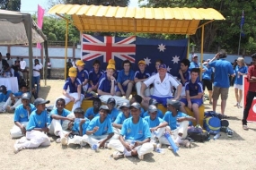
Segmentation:
{"type": "Polygon", "coordinates": [[[141,97],[148,102],[150,98],[154,98],[157,103],[161,103],[166,106],[167,98],[173,98],[179,100],[181,96],[181,82],[177,81],[171,74],[167,73],[167,67],[165,64],[160,64],[158,72],[149,77],[141,84],[141,97]],[[150,97],[145,97],[145,89],[151,84],[154,84],[154,93],[150,97]],[[173,98],[172,87],[177,89],[177,95],[173,98]]]}

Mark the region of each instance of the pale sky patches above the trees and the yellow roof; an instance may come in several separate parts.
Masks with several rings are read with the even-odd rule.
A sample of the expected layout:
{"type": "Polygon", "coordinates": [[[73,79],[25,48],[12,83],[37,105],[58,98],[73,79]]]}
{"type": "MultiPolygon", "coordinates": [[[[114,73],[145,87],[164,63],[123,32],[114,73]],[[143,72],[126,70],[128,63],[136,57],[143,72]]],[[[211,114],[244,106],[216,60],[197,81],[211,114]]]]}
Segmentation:
{"type": "MultiPolygon", "coordinates": [[[[138,7],[138,0],[130,0],[130,7],[138,7]]],[[[49,9],[49,0],[22,0],[21,12],[22,13],[37,13],[38,4],[42,6],[42,8],[48,10],[49,9]]]]}

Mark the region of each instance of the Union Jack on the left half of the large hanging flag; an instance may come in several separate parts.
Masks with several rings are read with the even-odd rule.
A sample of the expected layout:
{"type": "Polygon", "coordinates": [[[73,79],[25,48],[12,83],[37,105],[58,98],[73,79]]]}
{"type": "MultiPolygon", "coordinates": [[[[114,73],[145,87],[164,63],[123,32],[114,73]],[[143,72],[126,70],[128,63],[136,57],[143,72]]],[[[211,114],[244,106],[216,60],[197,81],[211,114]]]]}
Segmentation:
{"type": "MultiPolygon", "coordinates": [[[[82,60],[93,61],[102,60],[103,63],[115,57],[120,60],[129,60],[135,63],[136,37],[118,38],[118,37],[93,37],[91,35],[82,35],[82,60]]],[[[87,64],[87,62],[86,62],[87,64]]]]}

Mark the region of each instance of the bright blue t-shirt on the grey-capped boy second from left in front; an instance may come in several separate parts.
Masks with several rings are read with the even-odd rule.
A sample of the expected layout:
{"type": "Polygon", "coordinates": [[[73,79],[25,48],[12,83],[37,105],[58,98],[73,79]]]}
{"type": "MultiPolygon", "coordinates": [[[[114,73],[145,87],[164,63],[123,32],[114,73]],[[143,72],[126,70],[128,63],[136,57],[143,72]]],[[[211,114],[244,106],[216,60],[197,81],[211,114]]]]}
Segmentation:
{"type": "Polygon", "coordinates": [[[26,127],[27,131],[31,131],[34,128],[44,128],[47,127],[49,121],[47,111],[44,110],[40,115],[36,114],[37,110],[34,110],[30,115],[29,123],[26,127]]]}

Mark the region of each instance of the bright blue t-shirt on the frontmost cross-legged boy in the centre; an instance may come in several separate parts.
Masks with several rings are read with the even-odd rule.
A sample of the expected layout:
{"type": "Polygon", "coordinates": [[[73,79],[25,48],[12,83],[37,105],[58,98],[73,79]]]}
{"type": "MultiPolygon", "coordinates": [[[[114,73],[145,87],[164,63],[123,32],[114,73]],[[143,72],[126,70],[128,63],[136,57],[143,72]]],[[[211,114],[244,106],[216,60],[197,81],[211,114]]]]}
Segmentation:
{"type": "Polygon", "coordinates": [[[132,119],[132,117],[126,119],[122,125],[120,134],[125,137],[125,140],[143,141],[151,138],[151,132],[146,120],[139,117],[138,123],[135,124],[132,119]]]}

